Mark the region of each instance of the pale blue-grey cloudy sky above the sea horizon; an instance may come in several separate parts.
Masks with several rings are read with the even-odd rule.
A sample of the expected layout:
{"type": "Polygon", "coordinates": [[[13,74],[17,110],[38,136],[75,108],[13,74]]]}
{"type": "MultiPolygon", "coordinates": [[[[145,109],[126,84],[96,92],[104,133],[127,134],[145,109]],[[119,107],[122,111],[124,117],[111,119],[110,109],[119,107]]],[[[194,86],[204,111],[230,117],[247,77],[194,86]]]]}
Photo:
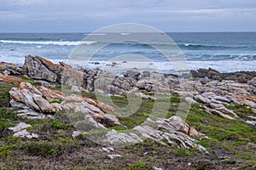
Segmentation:
{"type": "Polygon", "coordinates": [[[138,23],[160,31],[256,31],[255,0],[0,0],[0,32],[91,32],[138,23]]]}

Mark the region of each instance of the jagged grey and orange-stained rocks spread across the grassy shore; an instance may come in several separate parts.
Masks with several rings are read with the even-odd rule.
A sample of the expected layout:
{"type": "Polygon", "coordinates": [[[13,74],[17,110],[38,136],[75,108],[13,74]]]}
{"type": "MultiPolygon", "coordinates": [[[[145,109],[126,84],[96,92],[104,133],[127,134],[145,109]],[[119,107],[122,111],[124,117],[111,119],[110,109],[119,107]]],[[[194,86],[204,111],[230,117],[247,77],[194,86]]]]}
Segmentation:
{"type": "MultiPolygon", "coordinates": [[[[178,77],[132,70],[119,77],[100,69],[73,70],[72,66],[63,62],[55,65],[47,59],[31,55],[26,56],[23,67],[0,63],[0,71],[1,82],[18,84],[9,91],[9,104],[21,119],[55,119],[55,113],[63,111],[67,115],[70,111],[78,113],[75,116],[82,116],[82,121],[73,124],[79,127],[79,131],[73,132],[73,138],[90,129],[110,128],[112,130],[103,139],[106,145],[136,144],[143,139],[152,139],[160,144],[195,148],[201,153],[208,153],[205,147],[198,144],[201,139],[208,138],[207,134],[195,130],[179,116],[157,120],[147,118],[143,125],[133,128],[136,133],[123,133],[113,128],[125,127],[116,108],[84,97],[81,93],[119,96],[135,92],[137,97],[152,101],[159,100],[159,95],[178,95],[185,103],[196,105],[206,114],[239,120],[249,127],[256,127],[256,71],[219,73],[209,68],[178,77]],[[237,114],[230,109],[232,105],[244,105],[254,114],[237,114]]],[[[15,137],[40,138],[40,134],[26,131],[31,125],[20,123],[9,127],[15,137]]]]}

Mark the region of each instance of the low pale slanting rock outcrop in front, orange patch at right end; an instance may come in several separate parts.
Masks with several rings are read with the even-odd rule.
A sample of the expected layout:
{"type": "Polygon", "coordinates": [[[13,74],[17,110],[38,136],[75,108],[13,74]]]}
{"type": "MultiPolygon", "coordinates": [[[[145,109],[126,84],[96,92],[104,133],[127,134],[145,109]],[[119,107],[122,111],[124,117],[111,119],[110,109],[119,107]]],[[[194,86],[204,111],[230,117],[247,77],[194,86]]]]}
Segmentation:
{"type": "Polygon", "coordinates": [[[110,145],[124,145],[136,144],[142,142],[143,139],[152,139],[161,144],[169,144],[178,148],[196,148],[207,152],[200,144],[196,144],[196,139],[192,139],[198,139],[201,136],[201,133],[198,133],[194,127],[189,127],[179,116],[172,116],[169,119],[160,119],[156,122],[147,119],[143,125],[134,127],[131,132],[127,133],[108,131],[103,142],[110,145]]]}

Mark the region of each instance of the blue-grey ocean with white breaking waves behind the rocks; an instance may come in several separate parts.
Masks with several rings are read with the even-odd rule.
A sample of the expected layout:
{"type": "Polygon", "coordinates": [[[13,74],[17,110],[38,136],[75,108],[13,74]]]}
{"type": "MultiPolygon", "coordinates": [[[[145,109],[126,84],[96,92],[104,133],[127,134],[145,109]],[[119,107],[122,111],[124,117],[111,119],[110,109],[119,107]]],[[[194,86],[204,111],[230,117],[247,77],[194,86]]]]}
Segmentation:
{"type": "MultiPolygon", "coordinates": [[[[181,49],[189,68],[211,67],[220,72],[256,71],[256,32],[166,33],[181,49]]],[[[0,61],[22,65],[27,54],[54,63],[67,61],[78,45],[101,42],[83,41],[87,33],[0,33],[0,61]]],[[[101,34],[96,36],[103,36],[101,34]]],[[[126,35],[127,36],[127,35],[126,35]]],[[[159,46],[165,45],[157,44],[159,46]]],[[[139,42],[113,42],[98,52],[90,68],[106,65],[113,56],[137,54],[156,63],[160,71],[172,73],[159,51],[139,42]]],[[[84,66],[84,65],[80,65],[84,66]]],[[[148,66],[144,67],[145,69],[148,66]]]]}

